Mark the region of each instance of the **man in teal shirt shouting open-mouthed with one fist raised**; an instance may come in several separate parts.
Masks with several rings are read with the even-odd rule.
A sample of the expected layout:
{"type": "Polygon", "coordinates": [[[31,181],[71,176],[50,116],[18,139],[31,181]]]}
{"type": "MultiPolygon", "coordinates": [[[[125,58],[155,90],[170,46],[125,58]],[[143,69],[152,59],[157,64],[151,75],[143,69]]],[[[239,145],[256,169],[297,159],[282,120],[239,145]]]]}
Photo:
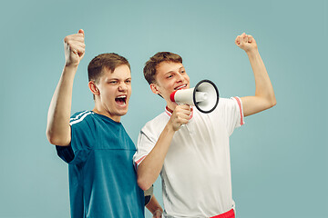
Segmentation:
{"type": "MultiPolygon", "coordinates": [[[[131,74],[128,60],[99,54],[88,65],[95,107],[70,117],[77,66],[85,54],[84,31],[65,38],[66,64],[49,106],[46,136],[68,163],[71,217],[144,217],[132,157],[136,146],[120,117],[128,113],[131,74]]],[[[155,198],[151,213],[160,215],[155,198]]],[[[154,215],[156,217],[156,215],[154,215]]],[[[159,216],[158,216],[159,217],[159,216]]]]}

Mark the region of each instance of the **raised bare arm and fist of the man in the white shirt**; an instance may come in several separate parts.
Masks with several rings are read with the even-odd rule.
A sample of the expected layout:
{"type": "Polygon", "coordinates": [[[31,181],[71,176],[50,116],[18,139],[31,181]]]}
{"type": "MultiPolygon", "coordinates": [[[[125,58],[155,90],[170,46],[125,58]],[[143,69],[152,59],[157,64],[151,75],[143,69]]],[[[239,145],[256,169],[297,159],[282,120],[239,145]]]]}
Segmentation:
{"type": "Polygon", "coordinates": [[[276,99],[255,39],[251,35],[243,33],[237,36],[235,44],[248,55],[255,78],[255,95],[241,97],[244,116],[271,108],[276,104],[276,99]]]}

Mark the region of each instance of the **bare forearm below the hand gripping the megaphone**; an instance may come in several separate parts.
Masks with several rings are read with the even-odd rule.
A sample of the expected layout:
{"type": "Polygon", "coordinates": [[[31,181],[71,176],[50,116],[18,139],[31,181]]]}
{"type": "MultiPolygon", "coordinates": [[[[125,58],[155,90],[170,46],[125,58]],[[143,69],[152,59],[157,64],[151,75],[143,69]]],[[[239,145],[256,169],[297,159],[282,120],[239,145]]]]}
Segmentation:
{"type": "Polygon", "coordinates": [[[169,144],[172,141],[174,130],[169,124],[166,125],[159,136],[157,144],[147,155],[145,160],[138,166],[138,185],[141,189],[147,190],[155,183],[162,169],[165,156],[169,151],[169,144]]]}

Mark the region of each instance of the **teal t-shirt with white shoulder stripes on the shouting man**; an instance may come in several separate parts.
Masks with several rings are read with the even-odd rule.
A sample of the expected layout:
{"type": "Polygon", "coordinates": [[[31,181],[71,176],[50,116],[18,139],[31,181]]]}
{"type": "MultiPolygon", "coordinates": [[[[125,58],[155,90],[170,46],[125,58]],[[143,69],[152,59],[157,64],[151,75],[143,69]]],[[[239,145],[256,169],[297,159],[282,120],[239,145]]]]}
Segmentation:
{"type": "Polygon", "coordinates": [[[71,217],[144,217],[137,149],[123,125],[92,111],[74,114],[70,125],[71,145],[56,150],[69,163],[71,217]]]}

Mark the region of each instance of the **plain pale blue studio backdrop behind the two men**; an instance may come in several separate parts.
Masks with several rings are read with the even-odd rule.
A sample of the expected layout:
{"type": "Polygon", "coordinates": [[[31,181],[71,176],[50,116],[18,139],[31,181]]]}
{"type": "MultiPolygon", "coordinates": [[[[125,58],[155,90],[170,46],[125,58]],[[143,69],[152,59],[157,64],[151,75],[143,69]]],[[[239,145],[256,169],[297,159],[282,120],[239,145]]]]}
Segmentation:
{"type": "Polygon", "coordinates": [[[143,78],[151,55],[180,54],[191,86],[210,79],[223,97],[251,95],[251,65],[234,39],[253,35],[278,104],[231,136],[237,216],[328,217],[326,0],[6,1],[0,24],[0,217],[69,217],[67,164],[46,140],[46,114],[65,62],[63,39],[79,28],[87,51],[72,112],[93,109],[89,61],[124,55],[133,94],[122,122],[134,142],[165,106],[143,78]]]}

